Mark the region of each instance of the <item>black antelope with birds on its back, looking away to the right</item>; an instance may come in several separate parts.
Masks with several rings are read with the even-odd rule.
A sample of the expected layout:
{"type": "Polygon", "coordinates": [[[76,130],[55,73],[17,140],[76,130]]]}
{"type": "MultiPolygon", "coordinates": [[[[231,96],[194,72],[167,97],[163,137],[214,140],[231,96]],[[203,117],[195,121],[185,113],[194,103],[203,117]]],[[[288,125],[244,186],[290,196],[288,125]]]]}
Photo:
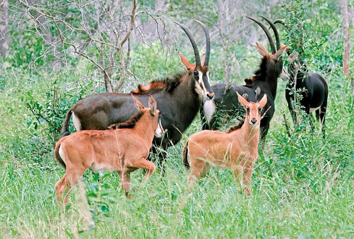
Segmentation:
{"type": "Polygon", "coordinates": [[[261,140],[264,140],[275,110],[274,99],[276,95],[277,78],[280,77],[284,81],[288,78],[288,73],[284,71],[283,62],[281,60],[281,55],[285,51],[286,46],[280,47],[278,32],[270,20],[263,17],[269,24],[271,23],[270,25],[276,39],[276,48],[266,27],[258,20],[248,18],[255,21],[265,31],[271,47],[271,54],[268,54],[265,48],[257,44],[258,52],[263,58],[259,69],[255,72],[255,76],[246,79],[246,85],[244,86],[230,84],[216,84],[211,86],[215,94],[214,99],[203,103],[200,114],[204,130],[219,129],[221,127],[219,117],[230,118],[235,116],[235,112],[244,112],[242,105],[240,105],[237,100],[236,92],[239,92],[241,95],[247,93],[250,102],[257,102],[258,99],[262,99],[263,95],[266,94],[267,103],[263,108],[262,114],[266,109],[270,108],[265,112],[265,117],[261,121],[261,140]]]}

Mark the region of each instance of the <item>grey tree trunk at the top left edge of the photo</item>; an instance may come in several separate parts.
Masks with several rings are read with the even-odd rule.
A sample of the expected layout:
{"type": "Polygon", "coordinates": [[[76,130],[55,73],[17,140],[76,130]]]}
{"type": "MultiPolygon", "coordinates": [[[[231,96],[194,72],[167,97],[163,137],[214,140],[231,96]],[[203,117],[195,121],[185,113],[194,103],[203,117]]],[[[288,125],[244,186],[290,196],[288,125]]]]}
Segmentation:
{"type": "Polygon", "coordinates": [[[8,1],[0,1],[0,56],[6,57],[8,50],[8,1]]]}

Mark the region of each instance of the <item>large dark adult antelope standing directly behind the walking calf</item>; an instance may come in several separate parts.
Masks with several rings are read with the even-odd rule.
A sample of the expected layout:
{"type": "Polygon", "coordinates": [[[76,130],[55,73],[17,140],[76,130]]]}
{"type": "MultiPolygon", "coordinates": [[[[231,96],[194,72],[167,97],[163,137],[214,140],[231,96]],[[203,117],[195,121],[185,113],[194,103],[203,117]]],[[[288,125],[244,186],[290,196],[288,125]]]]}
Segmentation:
{"type": "MultiPolygon", "coordinates": [[[[139,85],[132,94],[143,104],[147,105],[149,94],[159,102],[161,111],[161,124],[166,131],[163,138],[155,138],[154,145],[161,146],[162,151],[152,147],[153,153],[158,153],[159,165],[166,157],[169,146],[176,145],[182,137],[182,133],[191,124],[197,115],[202,99],[206,101],[214,97],[209,84],[209,55],[210,38],[208,29],[200,21],[206,38],[206,53],[202,62],[195,40],[189,30],[176,22],[187,34],[195,57],[195,64],[190,64],[178,53],[185,72],[177,73],[166,80],[155,80],[147,86],[139,85]]],[[[115,123],[127,121],[136,113],[131,93],[96,93],[80,100],[69,109],[66,114],[60,137],[69,135],[70,117],[73,115],[73,123],[76,130],[105,130],[115,123]]]]}

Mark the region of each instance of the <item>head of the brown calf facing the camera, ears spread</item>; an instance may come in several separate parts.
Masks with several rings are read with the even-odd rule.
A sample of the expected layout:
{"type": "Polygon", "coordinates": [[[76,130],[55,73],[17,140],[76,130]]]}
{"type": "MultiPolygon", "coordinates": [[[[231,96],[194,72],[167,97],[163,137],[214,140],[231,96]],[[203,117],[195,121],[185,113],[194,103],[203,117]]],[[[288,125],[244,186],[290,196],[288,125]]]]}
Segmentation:
{"type": "Polygon", "coordinates": [[[261,111],[267,102],[266,94],[259,102],[248,102],[244,97],[242,97],[239,92],[236,92],[239,97],[239,101],[246,111],[245,124],[248,123],[253,127],[260,127],[261,122],[261,111]]]}

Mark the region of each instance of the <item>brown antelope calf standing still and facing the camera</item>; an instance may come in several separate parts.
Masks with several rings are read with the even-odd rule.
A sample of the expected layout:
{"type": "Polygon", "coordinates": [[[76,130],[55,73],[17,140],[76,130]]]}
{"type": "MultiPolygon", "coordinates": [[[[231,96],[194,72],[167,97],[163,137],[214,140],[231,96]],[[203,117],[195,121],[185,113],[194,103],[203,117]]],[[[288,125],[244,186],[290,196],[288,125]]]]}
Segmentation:
{"type": "Polygon", "coordinates": [[[267,102],[266,94],[260,102],[248,102],[237,92],[240,103],[246,110],[246,119],[228,132],[203,130],[189,137],[183,149],[183,163],[188,168],[190,158],[189,185],[205,176],[211,165],[230,168],[235,180],[245,191],[251,193],[253,166],[258,159],[260,142],[261,110],[267,102]]]}

